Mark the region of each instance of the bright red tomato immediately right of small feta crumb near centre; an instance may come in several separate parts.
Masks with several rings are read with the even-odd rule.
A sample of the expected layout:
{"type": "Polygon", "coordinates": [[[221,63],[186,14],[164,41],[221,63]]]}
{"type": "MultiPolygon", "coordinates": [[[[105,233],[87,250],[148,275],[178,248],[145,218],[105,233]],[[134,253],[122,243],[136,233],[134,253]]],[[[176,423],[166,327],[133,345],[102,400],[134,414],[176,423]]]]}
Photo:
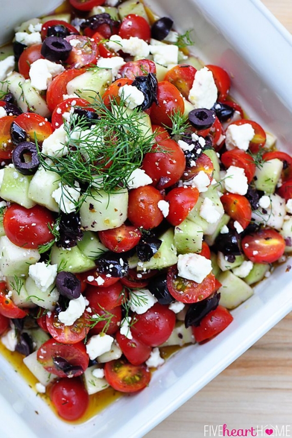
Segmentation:
{"type": "Polygon", "coordinates": [[[199,198],[196,187],[175,187],[165,196],[169,203],[169,213],[166,219],[173,226],[179,225],[187,217],[199,198]]]}

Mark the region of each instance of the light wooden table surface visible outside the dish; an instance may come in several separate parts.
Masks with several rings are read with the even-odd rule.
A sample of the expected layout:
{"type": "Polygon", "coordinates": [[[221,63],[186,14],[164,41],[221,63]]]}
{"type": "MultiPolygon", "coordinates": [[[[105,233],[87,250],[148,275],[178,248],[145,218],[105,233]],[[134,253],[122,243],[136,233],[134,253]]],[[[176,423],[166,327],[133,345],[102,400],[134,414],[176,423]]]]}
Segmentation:
{"type": "MultiPolygon", "coordinates": [[[[292,0],[262,2],[292,33],[292,0]]],[[[210,426],[224,423],[228,429],[259,426],[266,437],[261,427],[274,427],[272,436],[292,437],[292,313],[146,438],[201,438],[205,425],[210,436],[210,426]]]]}

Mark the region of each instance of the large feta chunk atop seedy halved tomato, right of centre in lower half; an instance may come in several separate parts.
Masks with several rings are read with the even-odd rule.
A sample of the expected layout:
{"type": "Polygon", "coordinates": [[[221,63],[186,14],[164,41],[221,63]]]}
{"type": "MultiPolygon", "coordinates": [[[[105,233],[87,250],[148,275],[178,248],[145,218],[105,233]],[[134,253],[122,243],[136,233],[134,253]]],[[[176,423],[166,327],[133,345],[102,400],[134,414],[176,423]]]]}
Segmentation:
{"type": "Polygon", "coordinates": [[[200,256],[200,254],[180,254],[178,256],[178,271],[180,277],[201,283],[212,271],[211,260],[200,256]]]}

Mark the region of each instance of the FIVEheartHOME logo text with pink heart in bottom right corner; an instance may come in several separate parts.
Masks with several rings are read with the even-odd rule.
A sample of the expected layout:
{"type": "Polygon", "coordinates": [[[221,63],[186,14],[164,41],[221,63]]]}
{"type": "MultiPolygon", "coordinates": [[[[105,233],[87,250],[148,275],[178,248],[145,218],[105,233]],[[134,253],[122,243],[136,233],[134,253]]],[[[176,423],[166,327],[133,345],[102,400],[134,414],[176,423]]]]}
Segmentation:
{"type": "Polygon", "coordinates": [[[205,424],[204,437],[292,437],[292,428],[290,424],[265,424],[248,429],[232,429],[227,424],[205,424]]]}

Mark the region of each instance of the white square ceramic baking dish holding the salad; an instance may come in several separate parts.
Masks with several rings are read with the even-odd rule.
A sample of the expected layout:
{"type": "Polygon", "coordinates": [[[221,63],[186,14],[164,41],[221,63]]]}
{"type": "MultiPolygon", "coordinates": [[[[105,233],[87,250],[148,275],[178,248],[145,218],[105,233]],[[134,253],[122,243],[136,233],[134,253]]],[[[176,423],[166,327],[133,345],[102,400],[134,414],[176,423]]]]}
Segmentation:
{"type": "MultiPolygon", "coordinates": [[[[193,53],[231,74],[232,96],[250,118],[277,136],[280,149],[288,151],[292,138],[292,37],[262,3],[146,3],[158,15],[173,18],[178,31],[194,29],[193,53]]],[[[32,9],[31,17],[34,15],[32,9]]],[[[232,312],[234,322],[224,332],[204,345],[183,348],[153,374],[148,388],[119,399],[84,424],[73,426],[56,418],[0,357],[0,436],[143,437],[292,310],[292,271],[286,272],[286,268],[287,263],[277,267],[256,287],[254,296],[232,312]]]]}

